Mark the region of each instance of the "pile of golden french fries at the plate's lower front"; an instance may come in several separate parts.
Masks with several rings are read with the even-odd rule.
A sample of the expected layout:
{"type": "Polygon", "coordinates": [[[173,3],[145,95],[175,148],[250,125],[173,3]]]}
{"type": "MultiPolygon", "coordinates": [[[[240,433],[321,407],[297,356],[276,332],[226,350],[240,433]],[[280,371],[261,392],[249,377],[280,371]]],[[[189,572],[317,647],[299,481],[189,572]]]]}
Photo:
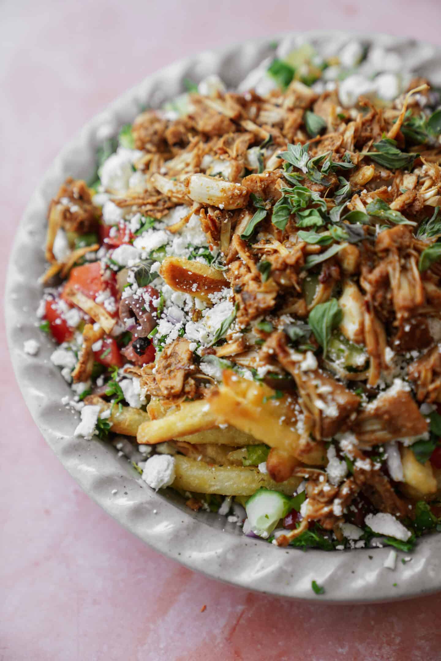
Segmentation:
{"type": "Polygon", "coordinates": [[[301,477],[292,475],[296,467],[325,465],[324,444],[305,447],[296,431],[296,401],[290,395],[279,398],[264,383],[244,379],[232,369],[223,371],[223,384],[206,399],[176,407],[165,408],[152,399],[144,412],[112,407],[94,395],[85,401],[111,409],[108,421],[116,434],[136,436],[139,444],[149,446],[176,442],[187,455],[175,457],[173,486],[180,490],[249,496],[265,486],[292,495],[301,482],[301,477]],[[268,473],[237,465],[247,446],[260,443],[271,447],[268,473]],[[216,446],[216,453],[205,450],[208,446],[216,446]]]}

